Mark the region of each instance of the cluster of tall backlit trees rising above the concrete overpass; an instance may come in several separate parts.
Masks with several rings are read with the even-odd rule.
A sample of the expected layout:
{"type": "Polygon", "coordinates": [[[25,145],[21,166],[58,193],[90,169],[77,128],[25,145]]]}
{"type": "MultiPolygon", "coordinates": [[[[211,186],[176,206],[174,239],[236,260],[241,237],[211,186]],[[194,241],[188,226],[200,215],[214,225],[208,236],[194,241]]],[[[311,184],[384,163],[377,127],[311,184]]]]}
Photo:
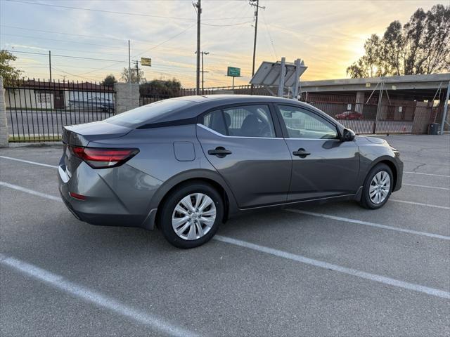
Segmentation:
{"type": "Polygon", "coordinates": [[[450,71],[450,6],[418,8],[402,27],[391,22],[380,38],[373,34],[365,54],[347,68],[352,78],[432,74],[450,71]]]}

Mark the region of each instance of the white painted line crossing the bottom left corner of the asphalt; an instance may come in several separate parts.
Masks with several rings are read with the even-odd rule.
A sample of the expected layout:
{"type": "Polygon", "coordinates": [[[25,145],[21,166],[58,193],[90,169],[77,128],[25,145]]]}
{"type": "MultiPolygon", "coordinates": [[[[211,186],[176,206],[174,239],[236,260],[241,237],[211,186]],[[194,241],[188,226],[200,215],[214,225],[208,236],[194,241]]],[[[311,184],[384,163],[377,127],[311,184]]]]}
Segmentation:
{"type": "Polygon", "coordinates": [[[124,317],[134,319],[136,322],[151,326],[152,328],[160,331],[160,333],[168,333],[171,336],[197,336],[195,333],[167,322],[165,319],[161,319],[160,317],[150,315],[147,312],[131,308],[128,305],[115,300],[114,298],[110,298],[101,293],[88,289],[85,286],[70,282],[60,275],[53,274],[53,272],[49,272],[48,270],[44,270],[30,263],[18,260],[17,258],[4,256],[0,253],[0,263],[11,267],[18,272],[22,272],[25,275],[33,277],[34,279],[45,282],[60,291],[70,293],[72,296],[81,298],[86,302],[94,303],[101,308],[111,310],[124,317]]]}

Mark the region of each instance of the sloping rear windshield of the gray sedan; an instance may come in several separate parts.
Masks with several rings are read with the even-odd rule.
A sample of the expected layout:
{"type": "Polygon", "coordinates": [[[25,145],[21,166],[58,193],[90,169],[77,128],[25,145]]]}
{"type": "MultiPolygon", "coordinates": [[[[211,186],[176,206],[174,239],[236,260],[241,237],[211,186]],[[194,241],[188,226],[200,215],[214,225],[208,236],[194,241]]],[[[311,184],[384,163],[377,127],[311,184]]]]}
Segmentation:
{"type": "MultiPolygon", "coordinates": [[[[105,121],[120,126],[136,128],[143,124],[158,123],[162,120],[166,121],[170,119],[171,114],[183,110],[188,105],[193,105],[193,102],[188,100],[160,100],[144,105],[143,107],[136,107],[136,109],[123,112],[122,114],[116,114],[113,117],[105,119],[105,121]]],[[[173,119],[180,118],[174,117],[173,119]]]]}

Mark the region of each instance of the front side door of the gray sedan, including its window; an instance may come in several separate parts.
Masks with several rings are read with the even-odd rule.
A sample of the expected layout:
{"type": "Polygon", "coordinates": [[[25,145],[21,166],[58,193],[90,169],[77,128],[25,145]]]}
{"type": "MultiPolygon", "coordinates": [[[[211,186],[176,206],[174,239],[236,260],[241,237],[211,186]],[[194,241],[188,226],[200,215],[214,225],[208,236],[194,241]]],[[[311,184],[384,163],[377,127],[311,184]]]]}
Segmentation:
{"type": "Polygon", "coordinates": [[[293,158],[288,200],[354,194],[358,189],[359,149],[340,140],[338,129],[314,110],[277,105],[293,158]]]}

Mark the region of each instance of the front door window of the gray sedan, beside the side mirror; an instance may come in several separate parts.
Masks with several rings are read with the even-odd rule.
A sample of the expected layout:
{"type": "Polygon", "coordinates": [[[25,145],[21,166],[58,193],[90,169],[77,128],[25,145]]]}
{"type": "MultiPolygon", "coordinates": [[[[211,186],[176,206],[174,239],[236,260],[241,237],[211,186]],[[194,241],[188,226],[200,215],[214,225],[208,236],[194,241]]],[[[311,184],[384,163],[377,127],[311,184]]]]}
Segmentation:
{"type": "Polygon", "coordinates": [[[326,119],[300,107],[278,105],[290,138],[336,139],[336,127],[326,119]]]}

